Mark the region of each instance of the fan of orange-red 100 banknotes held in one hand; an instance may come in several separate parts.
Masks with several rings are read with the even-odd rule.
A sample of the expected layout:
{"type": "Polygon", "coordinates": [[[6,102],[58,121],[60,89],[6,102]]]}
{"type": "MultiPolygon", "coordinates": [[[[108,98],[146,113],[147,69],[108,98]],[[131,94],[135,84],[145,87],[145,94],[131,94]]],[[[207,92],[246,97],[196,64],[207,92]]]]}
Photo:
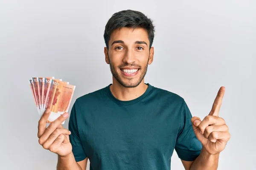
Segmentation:
{"type": "Polygon", "coordinates": [[[29,85],[40,117],[47,108],[51,111],[47,123],[53,122],[68,111],[76,88],[69,82],[54,77],[32,77],[29,85]]]}

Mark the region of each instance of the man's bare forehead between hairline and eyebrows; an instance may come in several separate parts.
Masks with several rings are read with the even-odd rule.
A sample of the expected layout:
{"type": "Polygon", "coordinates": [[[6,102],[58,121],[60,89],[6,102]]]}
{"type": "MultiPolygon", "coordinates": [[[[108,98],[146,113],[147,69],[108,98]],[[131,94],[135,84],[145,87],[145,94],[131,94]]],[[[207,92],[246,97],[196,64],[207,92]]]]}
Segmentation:
{"type": "Polygon", "coordinates": [[[148,32],[144,28],[117,28],[111,33],[110,44],[116,40],[123,40],[125,43],[134,43],[135,41],[148,42],[148,32]]]}

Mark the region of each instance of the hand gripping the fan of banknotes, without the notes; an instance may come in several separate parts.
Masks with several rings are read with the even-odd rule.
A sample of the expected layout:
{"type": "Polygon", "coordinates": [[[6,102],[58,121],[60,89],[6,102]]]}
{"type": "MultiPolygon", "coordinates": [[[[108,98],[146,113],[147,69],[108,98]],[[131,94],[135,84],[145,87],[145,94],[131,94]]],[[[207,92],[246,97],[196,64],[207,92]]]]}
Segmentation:
{"type": "Polygon", "coordinates": [[[47,109],[38,122],[38,142],[44,149],[57,153],[59,156],[67,156],[72,152],[72,145],[69,140],[71,134],[61,123],[67,119],[68,113],[59,116],[47,127],[47,119],[50,110],[47,109]],[[47,127],[47,128],[46,128],[47,127]]]}

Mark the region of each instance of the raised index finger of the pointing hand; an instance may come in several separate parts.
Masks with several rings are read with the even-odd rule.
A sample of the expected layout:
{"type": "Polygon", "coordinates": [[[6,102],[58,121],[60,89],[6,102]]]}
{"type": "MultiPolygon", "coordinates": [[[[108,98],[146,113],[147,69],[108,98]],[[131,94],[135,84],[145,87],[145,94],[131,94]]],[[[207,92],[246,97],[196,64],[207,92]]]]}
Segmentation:
{"type": "Polygon", "coordinates": [[[225,87],[221,87],[218,91],[218,94],[213,102],[212,105],[212,110],[210,111],[209,115],[211,116],[218,116],[218,113],[220,111],[221,108],[221,104],[222,104],[222,99],[225,93],[225,87]]]}

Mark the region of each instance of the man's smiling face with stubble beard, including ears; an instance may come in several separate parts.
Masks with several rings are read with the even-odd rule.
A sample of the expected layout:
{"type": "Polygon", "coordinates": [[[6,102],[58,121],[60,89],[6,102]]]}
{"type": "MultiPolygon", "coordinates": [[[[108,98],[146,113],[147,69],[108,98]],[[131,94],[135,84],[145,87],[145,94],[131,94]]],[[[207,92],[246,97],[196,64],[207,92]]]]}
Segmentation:
{"type": "Polygon", "coordinates": [[[117,82],[126,88],[139,85],[148,64],[153,62],[154,48],[149,50],[148,33],[143,28],[121,28],[111,33],[105,60],[117,82]]]}

